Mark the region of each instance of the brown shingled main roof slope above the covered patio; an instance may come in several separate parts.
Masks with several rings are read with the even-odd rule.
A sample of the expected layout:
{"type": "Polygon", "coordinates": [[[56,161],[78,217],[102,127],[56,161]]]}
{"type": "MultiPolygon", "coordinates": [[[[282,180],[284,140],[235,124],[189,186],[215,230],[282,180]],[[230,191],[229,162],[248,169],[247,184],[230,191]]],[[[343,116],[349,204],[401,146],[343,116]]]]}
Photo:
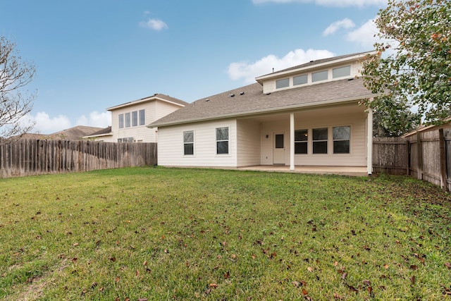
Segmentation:
{"type": "Polygon", "coordinates": [[[373,94],[364,87],[362,78],[334,80],[271,94],[264,94],[261,85],[255,83],[199,99],[147,127],[282,112],[309,106],[357,101],[368,97],[373,97],[373,94]]]}

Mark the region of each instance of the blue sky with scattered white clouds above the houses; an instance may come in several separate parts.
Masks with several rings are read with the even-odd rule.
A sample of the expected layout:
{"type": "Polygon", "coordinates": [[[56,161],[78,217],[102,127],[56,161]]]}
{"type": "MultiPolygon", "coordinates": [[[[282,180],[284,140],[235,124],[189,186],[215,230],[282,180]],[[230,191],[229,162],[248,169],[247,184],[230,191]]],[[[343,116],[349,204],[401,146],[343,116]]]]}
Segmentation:
{"type": "Polygon", "coordinates": [[[0,0],[36,75],[34,133],[111,125],[156,93],[194,102],[314,59],[370,51],[387,0],[0,0]]]}

